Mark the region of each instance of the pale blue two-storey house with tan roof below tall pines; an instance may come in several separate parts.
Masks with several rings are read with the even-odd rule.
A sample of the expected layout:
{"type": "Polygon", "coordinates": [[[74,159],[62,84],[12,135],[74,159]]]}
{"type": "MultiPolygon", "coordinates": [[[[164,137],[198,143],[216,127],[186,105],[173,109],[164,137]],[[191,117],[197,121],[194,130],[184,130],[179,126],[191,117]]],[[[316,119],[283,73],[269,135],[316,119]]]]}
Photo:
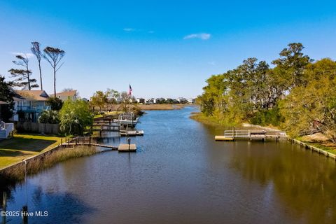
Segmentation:
{"type": "Polygon", "coordinates": [[[42,111],[50,110],[49,95],[44,90],[15,90],[14,121],[37,122],[42,111]]]}

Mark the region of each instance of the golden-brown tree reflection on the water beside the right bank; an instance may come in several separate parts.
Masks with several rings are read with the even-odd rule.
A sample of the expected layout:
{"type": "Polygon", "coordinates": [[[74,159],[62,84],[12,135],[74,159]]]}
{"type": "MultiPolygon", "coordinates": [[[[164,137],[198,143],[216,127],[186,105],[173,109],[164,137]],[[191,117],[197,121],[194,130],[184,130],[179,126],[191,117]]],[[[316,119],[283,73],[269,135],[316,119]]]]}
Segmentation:
{"type": "Polygon", "coordinates": [[[232,150],[230,166],[248,181],[272,186],[269,194],[274,194],[296,221],[336,222],[334,161],[288,143],[240,142],[232,150]]]}

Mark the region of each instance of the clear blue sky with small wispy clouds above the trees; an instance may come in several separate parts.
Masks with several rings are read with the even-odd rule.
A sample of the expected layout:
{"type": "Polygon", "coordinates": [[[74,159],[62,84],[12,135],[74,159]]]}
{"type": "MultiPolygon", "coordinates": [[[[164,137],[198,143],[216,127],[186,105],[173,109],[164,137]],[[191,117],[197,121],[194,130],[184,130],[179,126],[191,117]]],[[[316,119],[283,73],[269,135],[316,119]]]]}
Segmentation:
{"type": "MultiPolygon", "coordinates": [[[[3,1],[0,74],[39,41],[66,51],[57,91],[106,88],[136,97],[196,97],[212,74],[248,57],[271,62],[290,42],[336,59],[335,1],[3,1]]],[[[34,78],[36,60],[31,57],[34,78]]],[[[43,62],[43,87],[52,70],[43,62]]]]}

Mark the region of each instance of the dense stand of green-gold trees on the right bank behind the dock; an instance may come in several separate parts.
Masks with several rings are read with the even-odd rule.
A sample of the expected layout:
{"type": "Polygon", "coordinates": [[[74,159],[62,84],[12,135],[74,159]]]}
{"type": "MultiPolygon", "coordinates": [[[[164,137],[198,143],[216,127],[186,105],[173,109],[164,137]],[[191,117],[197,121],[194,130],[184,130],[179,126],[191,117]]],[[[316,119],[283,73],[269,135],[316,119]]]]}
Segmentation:
{"type": "Polygon", "coordinates": [[[292,137],[321,132],[336,142],[336,62],[314,61],[290,43],[270,68],[248,58],[211,76],[197,97],[202,116],[222,125],[274,125],[292,137]]]}

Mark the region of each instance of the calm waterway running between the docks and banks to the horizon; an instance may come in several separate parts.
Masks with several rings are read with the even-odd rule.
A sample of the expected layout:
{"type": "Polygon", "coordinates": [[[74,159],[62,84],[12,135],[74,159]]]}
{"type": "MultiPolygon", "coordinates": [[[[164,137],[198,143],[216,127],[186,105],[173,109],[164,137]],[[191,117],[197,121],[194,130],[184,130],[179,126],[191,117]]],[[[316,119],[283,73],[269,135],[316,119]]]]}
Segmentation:
{"type": "MultiPolygon", "coordinates": [[[[137,153],[100,153],[29,178],[29,223],[336,223],[336,163],[288,142],[215,142],[188,107],[148,111],[137,153]]],[[[125,139],[108,139],[118,144],[125,139]]],[[[8,211],[25,203],[17,186],[8,211]]],[[[20,223],[12,218],[10,223],[20,223]]]]}

